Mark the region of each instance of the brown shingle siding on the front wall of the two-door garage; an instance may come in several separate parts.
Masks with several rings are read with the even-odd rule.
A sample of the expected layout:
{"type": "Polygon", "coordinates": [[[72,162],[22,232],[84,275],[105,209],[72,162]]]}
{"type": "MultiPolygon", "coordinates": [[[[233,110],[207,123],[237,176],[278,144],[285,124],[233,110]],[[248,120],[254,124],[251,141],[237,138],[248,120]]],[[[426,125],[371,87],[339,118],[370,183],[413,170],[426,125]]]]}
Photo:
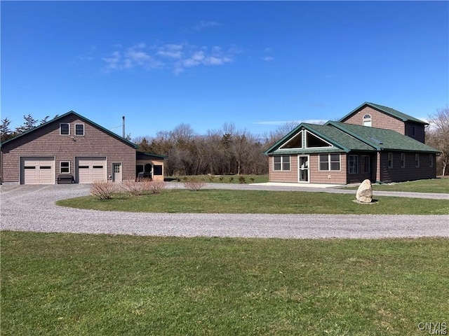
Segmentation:
{"type": "Polygon", "coordinates": [[[107,158],[107,176],[112,175],[112,163],[121,163],[123,179],[135,179],[135,148],[72,114],[23,134],[4,144],[1,151],[6,182],[19,182],[20,157],[36,155],[55,157],[56,177],[61,161],[70,162],[70,174],[75,176],[75,158],[101,156],[107,158]],[[60,123],[70,124],[69,135],[60,135],[60,123]],[[75,135],[75,124],[84,125],[83,136],[75,135]]]}

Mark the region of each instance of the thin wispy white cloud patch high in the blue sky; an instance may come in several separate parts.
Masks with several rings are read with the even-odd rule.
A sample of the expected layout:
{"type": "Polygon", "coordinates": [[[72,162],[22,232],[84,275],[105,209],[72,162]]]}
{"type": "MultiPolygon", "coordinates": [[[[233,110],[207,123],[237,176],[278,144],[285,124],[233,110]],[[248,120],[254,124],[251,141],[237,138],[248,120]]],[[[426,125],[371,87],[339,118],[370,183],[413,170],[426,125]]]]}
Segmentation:
{"type": "Polygon", "coordinates": [[[130,69],[142,67],[143,69],[172,69],[179,74],[187,68],[194,66],[220,66],[234,62],[235,55],[241,52],[235,45],[227,50],[214,45],[190,45],[189,43],[158,43],[147,46],[138,43],[129,48],[118,48],[109,57],[103,57],[105,70],[130,69]]]}

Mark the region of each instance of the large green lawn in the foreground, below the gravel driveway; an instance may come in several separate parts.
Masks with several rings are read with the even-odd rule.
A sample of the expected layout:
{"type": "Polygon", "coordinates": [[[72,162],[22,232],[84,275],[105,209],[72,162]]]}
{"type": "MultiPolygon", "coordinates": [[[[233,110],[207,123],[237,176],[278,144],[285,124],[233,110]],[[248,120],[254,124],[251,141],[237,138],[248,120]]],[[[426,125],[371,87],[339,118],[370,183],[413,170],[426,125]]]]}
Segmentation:
{"type": "Polygon", "coordinates": [[[1,232],[1,335],[424,335],[449,240],[1,232]]]}

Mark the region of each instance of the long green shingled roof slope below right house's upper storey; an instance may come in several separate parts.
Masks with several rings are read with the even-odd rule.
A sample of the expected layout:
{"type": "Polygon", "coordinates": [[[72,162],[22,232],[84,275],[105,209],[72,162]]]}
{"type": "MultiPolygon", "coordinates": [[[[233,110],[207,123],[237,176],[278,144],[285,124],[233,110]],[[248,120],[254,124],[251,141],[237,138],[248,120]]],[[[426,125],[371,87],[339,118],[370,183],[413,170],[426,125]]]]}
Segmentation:
{"type": "Polygon", "coordinates": [[[400,134],[394,130],[384,130],[383,128],[352,125],[347,123],[337,123],[328,121],[326,125],[333,126],[351,137],[363,143],[373,146],[377,151],[413,151],[425,153],[439,153],[435,148],[431,148],[422,142],[400,134]]]}

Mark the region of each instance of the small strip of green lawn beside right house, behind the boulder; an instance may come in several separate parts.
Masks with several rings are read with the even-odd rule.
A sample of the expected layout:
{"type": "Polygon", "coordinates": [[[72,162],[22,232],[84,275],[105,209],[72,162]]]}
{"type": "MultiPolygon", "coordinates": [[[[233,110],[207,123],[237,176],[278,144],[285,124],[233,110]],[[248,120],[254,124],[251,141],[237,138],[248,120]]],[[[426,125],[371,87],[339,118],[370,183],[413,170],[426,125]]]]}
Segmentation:
{"type": "MultiPolygon", "coordinates": [[[[347,189],[357,190],[357,188],[358,187],[348,187],[347,189]]],[[[392,184],[373,184],[373,190],[449,194],[449,176],[438,179],[407,181],[392,184]]]]}

